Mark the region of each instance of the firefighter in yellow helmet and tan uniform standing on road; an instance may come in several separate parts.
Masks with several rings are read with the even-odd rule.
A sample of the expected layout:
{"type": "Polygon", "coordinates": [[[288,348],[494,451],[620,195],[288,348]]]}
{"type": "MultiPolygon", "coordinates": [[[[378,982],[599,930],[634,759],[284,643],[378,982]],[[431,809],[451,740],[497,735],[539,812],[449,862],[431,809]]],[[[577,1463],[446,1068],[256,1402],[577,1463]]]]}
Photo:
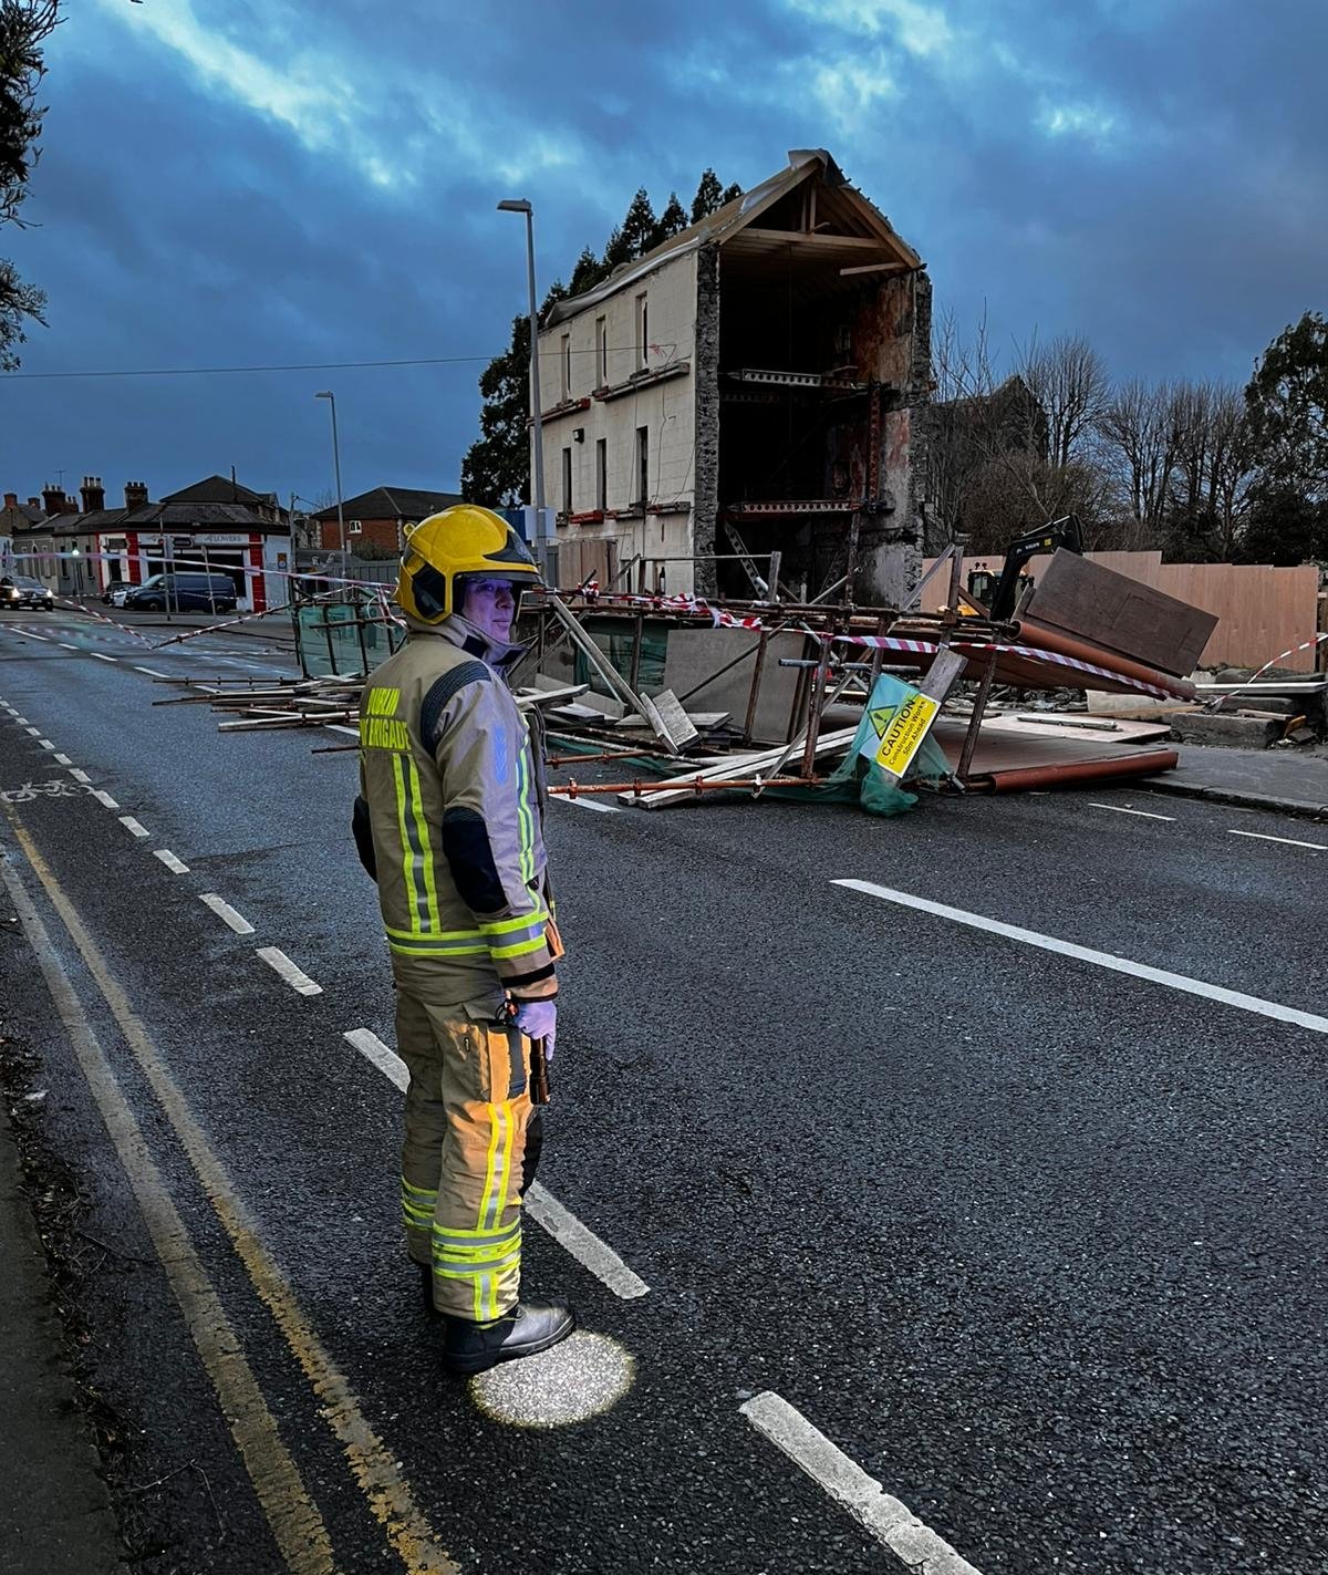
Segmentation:
{"type": "Polygon", "coordinates": [[[402,554],[408,638],[369,677],[356,843],[378,882],[410,1069],[402,1211],[443,1364],[548,1350],[566,1303],[521,1299],[521,1197],[539,1158],[534,1057],[551,1057],[561,943],[540,835],[542,750],[504,679],[540,584],[488,509],[422,520],[402,554]]]}

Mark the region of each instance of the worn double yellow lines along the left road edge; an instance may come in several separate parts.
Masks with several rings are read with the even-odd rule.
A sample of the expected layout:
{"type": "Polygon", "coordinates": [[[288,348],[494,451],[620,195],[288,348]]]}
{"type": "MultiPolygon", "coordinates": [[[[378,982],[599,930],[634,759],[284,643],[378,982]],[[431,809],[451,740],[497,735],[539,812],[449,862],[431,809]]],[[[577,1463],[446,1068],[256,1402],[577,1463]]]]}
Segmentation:
{"type": "MultiPolygon", "coordinates": [[[[88,973],[124,1035],[124,1043],[134,1054],[180,1139],[181,1148],[254,1288],[309,1380],[313,1402],[340,1443],[351,1476],[388,1542],[400,1556],[408,1575],[458,1575],[458,1566],[438,1545],[438,1539],[397,1469],[392,1452],[369,1425],[353,1389],[323,1348],[312,1325],[299,1309],[285,1276],[258,1240],[254,1221],[239,1200],[225,1166],[208,1145],[161,1052],[107,969],[87,926],[8,805],[5,805],[5,814],[24,857],[41,882],[69,939],[77,947],[88,973]]],[[[290,1451],[282,1443],[276,1419],[268,1408],[254,1369],[249,1366],[239,1336],[227,1318],[161,1172],[148,1154],[142,1129],[69,983],[69,976],[58,961],[46,925],[17,873],[11,868],[11,862],[3,855],[0,855],[0,880],[3,880],[27,939],[36,953],[55,1010],[69,1033],[79,1066],[139,1200],[153,1246],[216,1389],[222,1413],[230,1424],[232,1436],[280,1555],[291,1575],[336,1575],[337,1561],[323,1515],[290,1451]]]]}

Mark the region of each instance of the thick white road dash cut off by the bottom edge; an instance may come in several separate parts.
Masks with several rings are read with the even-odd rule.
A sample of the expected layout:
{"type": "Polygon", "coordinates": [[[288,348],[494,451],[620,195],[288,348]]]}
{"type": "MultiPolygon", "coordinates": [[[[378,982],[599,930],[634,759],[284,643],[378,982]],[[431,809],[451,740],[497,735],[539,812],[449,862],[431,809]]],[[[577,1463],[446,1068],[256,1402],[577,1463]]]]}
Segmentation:
{"type": "Polygon", "coordinates": [[[980,1575],[781,1395],[767,1389],[739,1411],[915,1575],[980,1575]]]}

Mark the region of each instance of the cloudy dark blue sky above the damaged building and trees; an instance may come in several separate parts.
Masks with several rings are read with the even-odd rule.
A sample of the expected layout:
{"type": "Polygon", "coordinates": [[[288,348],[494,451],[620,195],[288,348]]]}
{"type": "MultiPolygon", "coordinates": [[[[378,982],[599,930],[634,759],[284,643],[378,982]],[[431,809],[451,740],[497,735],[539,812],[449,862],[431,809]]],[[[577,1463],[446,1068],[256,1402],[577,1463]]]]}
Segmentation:
{"type": "Polygon", "coordinates": [[[632,194],[824,146],[1005,364],[1245,383],[1328,293],[1322,0],[74,0],[0,255],[0,490],[458,484],[477,378],[632,194]],[[432,361],[413,367],[326,364],[432,361]],[[323,365],[172,376],[200,367],[323,365]],[[117,373],[49,376],[49,373],[117,373]]]}

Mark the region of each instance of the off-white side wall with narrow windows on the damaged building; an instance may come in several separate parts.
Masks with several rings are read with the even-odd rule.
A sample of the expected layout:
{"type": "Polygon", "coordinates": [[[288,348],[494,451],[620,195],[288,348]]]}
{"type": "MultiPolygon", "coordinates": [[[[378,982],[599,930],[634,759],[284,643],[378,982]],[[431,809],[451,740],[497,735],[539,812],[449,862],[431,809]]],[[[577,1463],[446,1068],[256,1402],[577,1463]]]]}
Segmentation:
{"type": "MultiPolygon", "coordinates": [[[[572,455],[573,515],[597,507],[597,443],[607,443],[607,509],[603,521],[559,523],[558,542],[614,540],[618,562],[629,558],[681,558],[692,551],[692,502],[695,488],[695,323],[696,254],[684,252],[630,279],[603,301],[540,334],[540,411],[543,416],[545,491],[553,509],[564,512],[562,450],[572,455]],[[646,345],[640,346],[640,304],[646,296],[646,345]],[[597,320],[605,321],[607,354],[597,353],[597,320]],[[564,335],[570,358],[564,359],[564,335]],[[595,398],[602,387],[618,389],[640,373],[687,362],[687,372],[660,383],[595,398]],[[570,365],[570,376],[566,367],[570,365]],[[566,398],[564,398],[566,389],[566,398]],[[559,410],[567,400],[589,400],[586,408],[559,410]],[[641,499],[636,480],[636,432],[649,432],[649,504],[676,504],[684,512],[622,517],[641,499]],[[580,430],[583,439],[573,433],[580,430]],[[618,513],[618,518],[613,515],[618,513]]],[[[690,591],[690,564],[663,565],[668,591],[690,591]]],[[[559,575],[567,578],[566,575],[559,575]]],[[[647,583],[657,581],[652,567],[647,583]]],[[[633,575],[635,583],[635,575],[633,575]]]]}

